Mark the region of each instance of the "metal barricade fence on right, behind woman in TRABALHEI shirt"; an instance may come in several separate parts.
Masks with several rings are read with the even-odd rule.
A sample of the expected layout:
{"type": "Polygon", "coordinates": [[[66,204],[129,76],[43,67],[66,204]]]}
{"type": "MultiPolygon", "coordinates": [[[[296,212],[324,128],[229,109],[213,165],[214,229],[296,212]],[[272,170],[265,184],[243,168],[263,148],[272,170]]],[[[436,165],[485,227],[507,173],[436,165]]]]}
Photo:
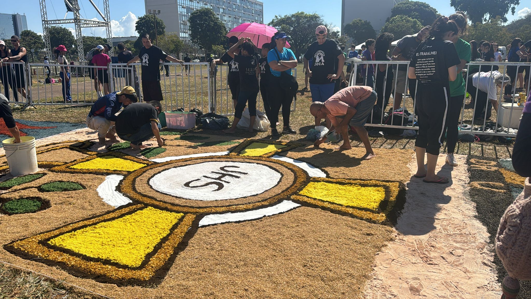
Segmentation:
{"type": "MultiPolygon", "coordinates": [[[[516,131],[514,129],[518,129],[519,118],[525,104],[524,102],[520,105],[520,96],[515,92],[517,74],[520,69],[529,72],[530,66],[531,63],[525,62],[467,63],[461,72],[465,80],[465,94],[463,95],[463,105],[459,114],[459,132],[474,135],[516,137],[516,131]],[[492,87],[490,84],[494,84],[492,72],[495,70],[498,70],[501,75],[508,75],[510,77],[509,83],[512,83],[512,85],[504,81],[501,86],[496,86],[496,98],[490,99],[489,90],[485,92],[473,86],[472,75],[479,70],[482,72],[491,72],[487,75],[492,79],[492,82],[488,86],[489,89],[492,87]],[[470,86],[471,84],[472,86],[470,86]],[[475,92],[476,90],[478,91],[475,92]],[[491,107],[495,110],[492,113],[491,107]],[[516,120],[515,117],[517,117],[516,120]]],[[[376,90],[376,93],[380,93],[378,95],[378,101],[375,104],[375,109],[371,112],[366,126],[405,130],[418,129],[416,126],[416,115],[414,115],[416,106],[414,98],[418,88],[418,82],[407,79],[408,69],[408,61],[353,62],[349,77],[349,86],[356,85],[357,82],[357,85],[371,86],[376,90]],[[371,65],[373,66],[372,68],[371,65]],[[400,68],[400,65],[406,65],[406,69],[404,70],[404,67],[400,68]],[[383,70],[380,70],[380,68],[383,70]],[[373,71],[372,76],[371,70],[373,71]],[[391,73],[393,78],[388,78],[391,73]],[[398,100],[398,97],[395,99],[398,94],[403,94],[404,96],[398,103],[394,103],[395,100],[398,100]],[[391,105],[394,104],[394,107],[388,108],[388,101],[391,102],[391,105]],[[395,107],[408,110],[412,113],[412,116],[409,119],[401,117],[400,114],[395,116],[395,113],[392,113],[395,107]],[[395,117],[399,119],[395,120],[395,117]]],[[[529,91],[530,81],[525,82],[526,94],[529,91]]],[[[400,97],[400,95],[398,96],[400,97]]],[[[450,101],[450,99],[448,100],[450,101]]]]}

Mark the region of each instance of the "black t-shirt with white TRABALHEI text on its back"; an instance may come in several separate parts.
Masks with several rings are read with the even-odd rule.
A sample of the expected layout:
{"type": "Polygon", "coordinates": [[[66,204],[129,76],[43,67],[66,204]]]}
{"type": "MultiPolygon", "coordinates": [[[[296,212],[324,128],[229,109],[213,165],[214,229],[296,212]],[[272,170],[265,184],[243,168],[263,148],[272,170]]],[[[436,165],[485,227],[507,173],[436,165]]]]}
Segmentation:
{"type": "Polygon", "coordinates": [[[430,38],[418,45],[409,66],[415,68],[419,82],[448,86],[448,68],[459,63],[461,60],[451,41],[430,38]]]}

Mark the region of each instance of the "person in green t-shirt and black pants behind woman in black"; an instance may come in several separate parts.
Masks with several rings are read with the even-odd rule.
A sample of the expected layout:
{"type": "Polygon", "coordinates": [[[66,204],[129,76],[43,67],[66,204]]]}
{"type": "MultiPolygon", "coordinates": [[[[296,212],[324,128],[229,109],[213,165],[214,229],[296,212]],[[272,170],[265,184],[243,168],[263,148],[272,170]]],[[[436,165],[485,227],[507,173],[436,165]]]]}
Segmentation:
{"type": "MultiPolygon", "coordinates": [[[[457,27],[459,28],[459,35],[465,34],[466,30],[466,16],[461,13],[455,13],[449,16],[450,20],[456,22],[457,27]]],[[[457,144],[457,135],[458,135],[458,125],[459,125],[459,115],[461,115],[461,109],[463,108],[463,101],[465,99],[465,79],[463,78],[463,68],[465,64],[470,62],[470,44],[460,39],[458,36],[452,43],[456,46],[457,55],[461,60],[461,63],[457,65],[457,79],[455,81],[450,81],[450,107],[446,115],[446,146],[447,146],[447,156],[446,162],[451,166],[457,166],[457,161],[453,156],[457,144]]]]}

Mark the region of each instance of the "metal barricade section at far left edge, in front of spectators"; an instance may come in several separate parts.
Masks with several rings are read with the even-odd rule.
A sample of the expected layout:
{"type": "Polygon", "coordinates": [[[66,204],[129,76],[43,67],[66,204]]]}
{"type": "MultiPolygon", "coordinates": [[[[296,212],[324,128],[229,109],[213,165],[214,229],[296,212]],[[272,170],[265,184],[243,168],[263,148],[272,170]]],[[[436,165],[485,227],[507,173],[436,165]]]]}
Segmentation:
{"type": "Polygon", "coordinates": [[[0,66],[0,93],[4,94],[10,103],[28,105],[31,86],[28,77],[28,65],[23,61],[4,62],[0,66]]]}

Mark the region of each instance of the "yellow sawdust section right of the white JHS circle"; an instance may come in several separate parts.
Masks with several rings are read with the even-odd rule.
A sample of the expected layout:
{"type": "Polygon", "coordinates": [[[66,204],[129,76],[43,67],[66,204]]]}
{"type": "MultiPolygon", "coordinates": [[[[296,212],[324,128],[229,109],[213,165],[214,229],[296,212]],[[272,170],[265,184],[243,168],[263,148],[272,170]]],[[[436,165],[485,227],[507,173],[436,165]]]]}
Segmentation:
{"type": "Polygon", "coordinates": [[[310,182],[300,194],[339,205],[371,210],[378,210],[378,206],[386,198],[386,190],[382,187],[362,187],[329,182],[310,182]]]}

